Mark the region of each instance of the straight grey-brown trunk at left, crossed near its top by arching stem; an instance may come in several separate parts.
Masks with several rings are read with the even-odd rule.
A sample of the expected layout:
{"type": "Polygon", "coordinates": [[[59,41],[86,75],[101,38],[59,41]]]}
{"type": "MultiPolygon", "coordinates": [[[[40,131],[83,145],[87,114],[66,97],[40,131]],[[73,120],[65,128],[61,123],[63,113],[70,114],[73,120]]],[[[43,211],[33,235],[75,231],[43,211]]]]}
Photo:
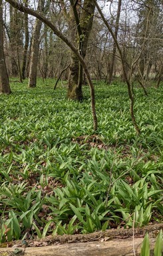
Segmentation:
{"type": "MultiPolygon", "coordinates": [[[[37,11],[43,10],[44,0],[39,0],[37,11]]],[[[29,68],[29,88],[36,87],[37,84],[37,64],[39,57],[39,37],[42,21],[36,19],[33,29],[33,40],[31,45],[31,62],[29,68]]]]}

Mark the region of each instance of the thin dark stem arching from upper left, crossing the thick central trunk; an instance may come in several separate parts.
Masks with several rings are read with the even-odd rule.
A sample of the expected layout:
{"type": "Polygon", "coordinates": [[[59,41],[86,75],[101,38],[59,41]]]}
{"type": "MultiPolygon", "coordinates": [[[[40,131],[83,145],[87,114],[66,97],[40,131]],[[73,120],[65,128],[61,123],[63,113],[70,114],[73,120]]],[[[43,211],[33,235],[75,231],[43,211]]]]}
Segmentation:
{"type": "Polygon", "coordinates": [[[57,35],[59,38],[61,38],[71,48],[71,50],[78,57],[79,61],[81,62],[82,68],[85,72],[86,79],[88,80],[88,86],[90,88],[93,128],[94,128],[94,131],[96,131],[98,129],[98,121],[97,121],[97,117],[96,117],[94,86],[92,84],[92,80],[90,78],[90,74],[88,72],[86,63],[85,63],[84,59],[82,58],[81,54],[79,53],[78,49],[75,47],[75,45],[73,45],[73,43],[71,43],[71,41],[69,41],[69,39],[67,39],[67,37],[65,37],[65,35],[63,35],[63,33],[61,33],[61,31],[59,31],[59,29],[57,29],[57,27],[55,25],[53,25],[53,23],[51,23],[51,21],[49,21],[49,19],[47,19],[45,16],[41,15],[41,13],[38,13],[37,11],[34,11],[31,8],[25,7],[25,5],[23,5],[21,3],[17,3],[15,0],[6,0],[6,1],[7,1],[7,3],[10,3],[14,8],[18,9],[19,11],[21,11],[23,13],[28,13],[28,14],[36,17],[43,23],[45,23],[48,27],[50,27],[53,30],[55,35],[57,35]]]}

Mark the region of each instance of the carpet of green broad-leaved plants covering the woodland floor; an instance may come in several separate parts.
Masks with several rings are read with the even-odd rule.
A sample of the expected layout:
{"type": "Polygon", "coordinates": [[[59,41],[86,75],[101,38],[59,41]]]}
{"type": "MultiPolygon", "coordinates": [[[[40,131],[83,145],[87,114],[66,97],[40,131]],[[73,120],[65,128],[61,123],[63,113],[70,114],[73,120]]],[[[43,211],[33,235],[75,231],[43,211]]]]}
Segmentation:
{"type": "Polygon", "coordinates": [[[161,222],[163,88],[135,88],[138,136],[124,84],[94,83],[96,134],[88,87],[54,84],[0,97],[0,242],[161,222]]]}

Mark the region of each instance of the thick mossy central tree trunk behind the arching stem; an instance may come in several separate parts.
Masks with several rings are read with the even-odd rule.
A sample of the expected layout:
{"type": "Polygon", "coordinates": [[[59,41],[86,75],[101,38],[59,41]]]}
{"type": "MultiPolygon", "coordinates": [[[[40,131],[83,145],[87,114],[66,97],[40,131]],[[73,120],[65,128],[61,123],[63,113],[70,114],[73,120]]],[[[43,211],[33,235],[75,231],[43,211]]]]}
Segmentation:
{"type": "MultiPolygon", "coordinates": [[[[73,4],[72,4],[73,5],[73,4]]],[[[93,14],[95,5],[91,1],[85,0],[81,12],[81,18],[76,7],[71,10],[71,19],[69,19],[69,29],[71,30],[71,41],[77,45],[77,33],[73,31],[73,27],[76,21],[78,37],[79,37],[79,51],[84,59],[86,55],[86,49],[88,45],[88,38],[92,29],[93,14]],[[76,8],[76,12],[75,12],[76,8]]],[[[83,68],[77,56],[72,53],[71,66],[69,72],[68,92],[67,96],[71,100],[82,100],[82,79],[83,68]]]]}

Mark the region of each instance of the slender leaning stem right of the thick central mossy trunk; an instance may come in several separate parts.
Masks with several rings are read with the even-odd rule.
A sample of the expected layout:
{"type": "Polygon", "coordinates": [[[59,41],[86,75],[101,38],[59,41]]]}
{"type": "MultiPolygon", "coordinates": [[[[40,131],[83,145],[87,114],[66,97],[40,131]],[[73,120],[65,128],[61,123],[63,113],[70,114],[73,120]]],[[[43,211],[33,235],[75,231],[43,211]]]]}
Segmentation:
{"type": "Polygon", "coordinates": [[[119,43],[118,43],[118,41],[117,41],[117,39],[114,35],[114,32],[112,31],[112,28],[108,24],[108,21],[106,21],[98,3],[96,2],[96,0],[93,0],[93,1],[94,1],[94,4],[96,5],[96,8],[98,9],[98,13],[100,13],[100,17],[104,21],[104,24],[106,25],[106,27],[108,28],[108,31],[110,32],[110,34],[112,35],[112,38],[114,39],[114,43],[116,44],[118,52],[120,53],[120,59],[121,59],[121,63],[122,63],[122,70],[123,70],[124,79],[126,81],[127,88],[128,88],[128,96],[130,98],[130,115],[131,115],[132,122],[134,124],[134,128],[135,128],[137,134],[140,134],[140,128],[138,127],[138,124],[136,123],[136,119],[135,119],[135,116],[134,116],[134,94],[132,93],[132,86],[131,86],[130,81],[128,80],[128,76],[126,74],[126,59],[124,59],[122,51],[120,49],[120,45],[119,45],[119,43]]]}

